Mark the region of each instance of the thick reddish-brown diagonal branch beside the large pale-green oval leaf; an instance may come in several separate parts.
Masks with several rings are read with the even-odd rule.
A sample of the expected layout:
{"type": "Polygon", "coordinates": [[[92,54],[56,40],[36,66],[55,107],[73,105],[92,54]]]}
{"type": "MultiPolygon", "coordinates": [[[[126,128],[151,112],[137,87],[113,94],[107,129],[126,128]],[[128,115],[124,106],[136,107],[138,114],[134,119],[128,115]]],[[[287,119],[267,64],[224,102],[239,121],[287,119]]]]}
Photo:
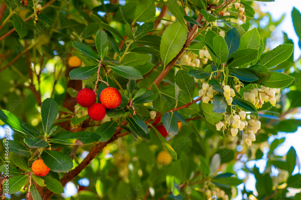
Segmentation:
{"type": "MultiPolygon", "coordinates": [[[[197,17],[197,22],[200,23],[200,21],[203,19],[202,15],[199,15],[197,17]]],[[[166,67],[165,70],[163,70],[160,75],[157,77],[157,79],[154,81],[154,84],[159,85],[160,82],[164,79],[164,77],[167,75],[167,73],[171,70],[171,68],[176,64],[176,62],[178,61],[178,59],[182,56],[182,54],[185,52],[185,48],[189,46],[189,44],[192,41],[192,38],[194,37],[195,31],[197,30],[198,25],[194,24],[192,26],[191,31],[189,31],[188,36],[187,36],[187,40],[185,42],[185,45],[183,46],[183,48],[181,49],[181,51],[178,53],[178,55],[176,55],[176,57],[174,59],[172,59],[172,61],[170,61],[166,67]]],[[[149,90],[151,90],[151,87],[148,88],[149,90]]]]}

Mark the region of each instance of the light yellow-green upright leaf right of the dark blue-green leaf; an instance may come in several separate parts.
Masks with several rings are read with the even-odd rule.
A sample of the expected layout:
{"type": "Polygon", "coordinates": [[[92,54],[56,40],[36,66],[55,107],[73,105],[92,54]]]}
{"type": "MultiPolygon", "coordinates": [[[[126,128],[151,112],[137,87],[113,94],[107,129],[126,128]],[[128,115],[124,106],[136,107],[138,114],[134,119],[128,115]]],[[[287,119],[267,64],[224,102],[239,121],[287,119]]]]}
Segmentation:
{"type": "Polygon", "coordinates": [[[238,50],[260,46],[260,36],[257,28],[247,31],[241,38],[238,50]]]}

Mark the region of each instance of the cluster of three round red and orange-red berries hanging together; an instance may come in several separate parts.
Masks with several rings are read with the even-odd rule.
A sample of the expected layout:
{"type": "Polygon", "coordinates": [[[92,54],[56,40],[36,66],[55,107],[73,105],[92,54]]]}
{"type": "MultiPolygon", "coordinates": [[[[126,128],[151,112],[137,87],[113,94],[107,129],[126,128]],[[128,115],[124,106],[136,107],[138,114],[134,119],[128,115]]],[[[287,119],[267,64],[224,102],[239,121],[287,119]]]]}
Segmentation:
{"type": "Polygon", "coordinates": [[[121,95],[116,88],[105,88],[100,93],[101,103],[95,103],[95,92],[88,88],[84,88],[77,93],[76,101],[82,107],[88,108],[89,117],[95,121],[100,121],[106,115],[106,108],[115,109],[120,105],[121,95]]]}

